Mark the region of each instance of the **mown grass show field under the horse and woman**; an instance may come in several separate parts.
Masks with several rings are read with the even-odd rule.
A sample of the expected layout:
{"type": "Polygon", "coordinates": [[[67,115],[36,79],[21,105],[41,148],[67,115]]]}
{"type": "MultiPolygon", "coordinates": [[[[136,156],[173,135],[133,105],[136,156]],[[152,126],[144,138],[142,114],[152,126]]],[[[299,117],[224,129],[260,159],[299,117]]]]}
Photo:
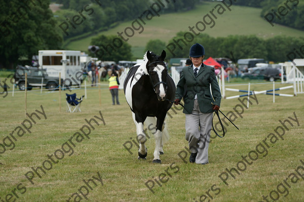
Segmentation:
{"type": "MultiPolygon", "coordinates": [[[[276,83],[276,87],[286,85],[288,84],[276,83]]],[[[252,83],[251,86],[254,90],[264,90],[271,89],[272,83],[252,83]]],[[[244,90],[248,88],[247,84],[235,84],[229,87],[244,90]]],[[[187,146],[184,139],[185,118],[181,111],[176,110],[177,114],[174,114],[172,110],[169,111],[172,115],[172,118],[168,119],[170,140],[164,145],[165,155],[161,156],[162,164],[159,165],[151,163],[155,148],[154,137],[147,141],[146,161],[137,160],[135,144],[130,149],[132,155],[123,146],[125,142],[132,141],[130,138],[133,140],[136,138],[135,124],[123,90],[119,91],[121,105],[112,106],[107,83],[102,82],[101,105],[99,105],[98,88],[90,86],[87,91],[88,97],[81,106],[82,112],[73,114],[65,112],[65,93],[69,91],[61,92],[61,112],[59,112],[58,91],[44,91],[40,94],[39,90],[33,90],[28,91],[27,94],[27,112],[29,114],[36,112],[41,120],[33,115],[36,124],[32,124],[31,133],[25,130],[26,133],[22,135],[21,129],[16,129],[20,126],[24,130],[21,125],[25,120],[24,92],[17,91],[14,97],[12,93],[9,93],[7,97],[1,98],[0,144],[3,145],[4,138],[11,137],[10,133],[16,130],[13,133],[16,140],[11,138],[15,144],[14,148],[10,145],[8,138],[5,140],[7,145],[5,153],[3,153],[4,147],[0,145],[0,152],[3,153],[0,154],[0,197],[4,201],[5,197],[11,198],[8,201],[16,199],[17,202],[67,201],[69,197],[71,197],[70,201],[85,201],[79,189],[85,194],[83,180],[92,179],[92,176],[95,177],[97,186],[90,182],[92,189],[87,188],[88,201],[203,201],[204,198],[206,198],[204,201],[209,201],[208,199],[210,201],[262,201],[262,195],[266,196],[270,193],[274,198],[279,197],[280,201],[304,200],[302,194],[304,182],[303,177],[300,176],[300,174],[303,175],[304,169],[299,168],[300,174],[295,171],[302,164],[300,160],[304,161],[303,94],[298,94],[296,97],[278,96],[275,103],[272,96],[258,94],[256,95],[258,104],[251,98],[252,105],[249,105],[248,109],[243,108],[243,113],[241,113],[241,108],[237,107],[240,115],[233,110],[237,105],[242,105],[238,99],[223,99],[221,111],[225,114],[230,111],[235,112],[237,118],[234,118],[236,119],[234,123],[240,130],[229,124],[226,126],[225,137],[212,139],[209,144],[209,164],[203,166],[184,163],[178,156],[180,152],[182,152],[181,155],[186,154],[184,147],[187,146]],[[47,119],[35,111],[42,112],[41,106],[47,119]],[[102,114],[105,125],[100,120],[99,112],[102,114]],[[299,126],[296,121],[292,121],[292,119],[296,120],[294,114],[299,126]],[[62,148],[62,145],[69,142],[74,133],[81,133],[80,129],[83,125],[88,125],[85,119],[91,118],[97,120],[100,125],[97,126],[92,122],[94,129],[90,129],[91,132],[88,135],[90,139],[84,136],[82,141],[78,139],[80,142],[77,142],[74,137],[71,141],[75,146],[69,144],[70,148],[68,148],[65,144],[62,148]],[[270,133],[275,133],[275,129],[282,134],[282,130],[277,127],[282,126],[279,120],[286,119],[290,120],[293,126],[285,122],[288,130],[285,130],[283,139],[278,137],[277,140],[274,138],[264,140],[270,133]],[[265,146],[263,140],[269,144],[269,147],[265,146]],[[264,145],[267,151],[262,149],[261,145],[257,146],[259,143],[264,145]],[[64,149],[64,153],[62,151],[61,154],[58,149],[64,149]],[[251,150],[259,152],[255,152],[258,159],[251,161],[247,157],[251,165],[246,164],[246,169],[244,169],[244,165],[239,162],[245,162],[242,156],[248,156],[250,152],[255,158],[251,150]],[[50,169],[46,160],[51,160],[47,155],[55,158],[54,153],[61,160],[57,160],[56,164],[53,163],[50,169]],[[43,164],[49,170],[46,170],[43,164]],[[237,166],[239,166],[240,175],[232,171],[234,179],[225,169],[231,170],[237,166]],[[41,175],[40,178],[34,174],[31,167],[34,169],[42,167],[46,173],[37,170],[41,175]],[[170,175],[164,177],[162,173],[166,173],[166,170],[170,175]],[[29,171],[34,174],[33,184],[25,177],[25,174],[29,177],[32,175],[29,171]],[[103,185],[96,180],[96,178],[99,179],[98,174],[103,185]],[[219,176],[227,177],[226,183],[229,185],[226,185],[219,176]],[[161,179],[164,177],[163,183],[160,182],[159,177],[161,179]],[[286,178],[288,178],[287,181],[286,178]],[[152,186],[153,182],[155,184],[151,188],[154,193],[145,185],[148,180],[150,180],[149,186],[152,186]],[[285,189],[280,183],[285,185],[285,189]],[[272,190],[276,190],[279,195],[272,190]]],[[[84,88],[75,89],[72,92],[81,96],[84,94],[84,88]]],[[[292,92],[292,89],[286,89],[280,93],[292,94],[292,92]]],[[[230,96],[238,93],[226,91],[226,94],[230,96]]],[[[26,119],[30,121],[28,117],[26,119]]],[[[25,125],[29,127],[28,122],[25,125]]],[[[88,129],[85,128],[84,132],[88,133],[88,129]]],[[[212,132],[211,137],[213,136],[212,132]]],[[[188,157],[189,155],[185,158],[186,161],[188,157]]],[[[270,200],[270,196],[268,199],[270,200]]]]}

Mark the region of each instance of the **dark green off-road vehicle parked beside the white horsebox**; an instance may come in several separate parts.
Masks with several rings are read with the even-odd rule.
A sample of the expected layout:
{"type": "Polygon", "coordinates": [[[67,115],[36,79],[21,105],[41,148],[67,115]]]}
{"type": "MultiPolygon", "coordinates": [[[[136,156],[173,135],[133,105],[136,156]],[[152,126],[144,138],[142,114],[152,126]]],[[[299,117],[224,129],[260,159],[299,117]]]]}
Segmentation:
{"type": "MultiPolygon", "coordinates": [[[[31,90],[34,86],[41,87],[41,85],[49,89],[57,88],[59,86],[59,78],[48,76],[45,69],[39,69],[36,67],[23,67],[18,65],[14,74],[14,78],[16,85],[19,86],[20,90],[25,90],[25,73],[27,73],[28,90],[31,90]],[[43,84],[41,84],[42,78],[43,84]]],[[[61,83],[63,83],[63,79],[61,79],[61,83]]]]}

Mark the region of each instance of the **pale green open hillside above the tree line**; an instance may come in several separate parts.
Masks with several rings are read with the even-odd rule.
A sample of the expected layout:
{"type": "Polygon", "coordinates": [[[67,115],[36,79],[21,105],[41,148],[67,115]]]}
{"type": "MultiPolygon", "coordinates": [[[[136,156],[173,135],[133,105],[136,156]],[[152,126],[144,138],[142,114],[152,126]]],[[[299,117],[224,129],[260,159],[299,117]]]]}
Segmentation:
{"type": "MultiPolygon", "coordinates": [[[[188,26],[195,26],[198,21],[203,21],[203,17],[209,13],[218,3],[204,2],[197,6],[195,10],[164,14],[160,17],[154,17],[150,21],[145,18],[146,25],[144,31],[140,34],[136,33],[128,42],[132,45],[134,57],[141,58],[144,47],[150,39],[161,39],[168,42],[179,31],[188,31],[188,26]]],[[[217,10],[217,9],[216,9],[217,10]]],[[[216,15],[214,27],[206,25],[204,33],[211,36],[227,36],[227,35],[256,35],[262,38],[270,38],[276,35],[287,35],[292,37],[303,36],[304,32],[276,24],[272,27],[264,18],[260,17],[261,9],[241,6],[231,6],[231,11],[226,10],[222,15],[219,15],[216,10],[213,12],[216,15]]],[[[138,16],[143,11],[138,12],[138,16]]],[[[212,16],[210,14],[210,16],[212,16]]],[[[213,18],[214,19],[214,18],[213,18]]],[[[132,21],[121,23],[119,26],[109,29],[100,34],[117,35],[117,32],[122,32],[126,27],[131,26],[132,21]]],[[[91,42],[91,38],[72,41],[65,48],[72,50],[87,51],[91,42]]]]}

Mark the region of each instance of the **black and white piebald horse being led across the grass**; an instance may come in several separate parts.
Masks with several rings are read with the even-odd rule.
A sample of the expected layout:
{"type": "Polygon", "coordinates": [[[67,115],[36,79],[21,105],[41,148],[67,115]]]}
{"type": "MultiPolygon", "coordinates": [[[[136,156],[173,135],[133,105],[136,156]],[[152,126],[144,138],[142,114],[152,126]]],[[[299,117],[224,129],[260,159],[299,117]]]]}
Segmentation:
{"type": "Polygon", "coordinates": [[[124,82],[125,96],[132,111],[140,143],[138,159],[146,159],[147,156],[143,124],[149,126],[148,129],[156,130],[153,132],[156,144],[153,163],[161,163],[160,154],[164,154],[163,143],[169,139],[168,131],[163,127],[167,111],[172,106],[168,100],[175,98],[176,88],[168,74],[165,58],[165,51],[161,56],[147,51],[144,62],[133,66],[124,82]]]}

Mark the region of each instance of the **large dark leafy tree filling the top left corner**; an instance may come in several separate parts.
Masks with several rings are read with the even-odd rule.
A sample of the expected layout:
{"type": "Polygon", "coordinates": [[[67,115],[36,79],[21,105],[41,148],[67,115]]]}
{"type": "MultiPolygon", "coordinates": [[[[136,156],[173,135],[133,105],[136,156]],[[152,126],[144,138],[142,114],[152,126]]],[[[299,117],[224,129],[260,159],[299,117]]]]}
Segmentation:
{"type": "Polygon", "coordinates": [[[0,67],[13,68],[31,60],[40,49],[57,49],[62,37],[49,1],[2,1],[0,7],[0,67]]]}

